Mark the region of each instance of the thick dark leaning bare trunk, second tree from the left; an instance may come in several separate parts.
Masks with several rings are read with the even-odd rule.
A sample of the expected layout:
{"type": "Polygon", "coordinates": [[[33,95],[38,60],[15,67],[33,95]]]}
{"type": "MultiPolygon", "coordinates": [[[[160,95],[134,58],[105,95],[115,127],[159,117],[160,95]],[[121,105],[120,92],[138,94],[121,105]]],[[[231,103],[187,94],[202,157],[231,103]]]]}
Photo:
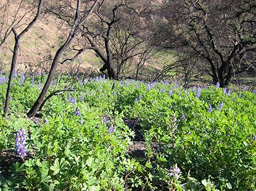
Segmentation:
{"type": "MultiPolygon", "coordinates": [[[[62,46],[57,50],[54,60],[51,64],[51,69],[49,71],[49,74],[47,76],[46,83],[44,84],[44,87],[38,96],[38,99],[33,104],[33,107],[31,107],[30,111],[28,111],[27,115],[28,117],[35,116],[36,112],[38,111],[39,107],[43,103],[43,99],[46,96],[47,91],[49,90],[49,87],[51,85],[52,79],[54,78],[54,75],[56,74],[57,66],[60,62],[60,58],[62,56],[62,53],[64,53],[65,50],[72,44],[72,41],[75,39],[76,34],[78,33],[78,29],[85,23],[89,15],[93,12],[94,8],[96,7],[96,4],[99,0],[92,1],[93,5],[89,8],[89,10],[81,10],[81,0],[76,1],[76,7],[75,7],[75,15],[72,15],[69,19],[73,21],[72,28],[70,30],[70,33],[68,34],[67,40],[62,44],[62,46]]],[[[72,1],[70,1],[72,2],[72,1]]],[[[85,3],[84,5],[88,5],[90,1],[83,1],[85,3]]],[[[73,7],[72,4],[68,5],[69,7],[73,7]]],[[[66,9],[65,9],[66,10],[66,9]]],[[[60,14],[62,14],[60,12],[60,14]]]]}

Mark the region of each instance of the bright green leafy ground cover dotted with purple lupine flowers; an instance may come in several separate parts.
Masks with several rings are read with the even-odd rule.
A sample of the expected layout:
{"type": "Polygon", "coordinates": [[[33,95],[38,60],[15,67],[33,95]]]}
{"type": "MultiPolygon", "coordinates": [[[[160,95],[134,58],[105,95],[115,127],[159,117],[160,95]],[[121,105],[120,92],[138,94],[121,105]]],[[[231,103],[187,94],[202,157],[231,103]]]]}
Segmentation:
{"type": "Polygon", "coordinates": [[[255,90],[64,76],[27,119],[45,76],[14,78],[0,190],[255,190],[255,90]]]}

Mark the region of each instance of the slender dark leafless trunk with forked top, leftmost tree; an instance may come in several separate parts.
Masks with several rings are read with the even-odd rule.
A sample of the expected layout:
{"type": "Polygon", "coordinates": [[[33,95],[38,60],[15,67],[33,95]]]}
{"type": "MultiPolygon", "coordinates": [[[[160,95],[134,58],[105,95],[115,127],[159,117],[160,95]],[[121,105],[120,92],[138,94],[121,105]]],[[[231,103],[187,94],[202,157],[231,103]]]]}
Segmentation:
{"type": "Polygon", "coordinates": [[[10,68],[9,81],[8,81],[8,86],[7,86],[7,90],[6,90],[6,102],[4,105],[4,116],[7,114],[8,110],[9,110],[10,87],[12,84],[12,76],[13,76],[15,68],[16,68],[17,57],[18,57],[18,52],[19,52],[19,47],[20,47],[20,39],[36,23],[36,21],[38,20],[40,14],[41,14],[42,6],[43,6],[43,0],[39,0],[38,11],[36,13],[35,18],[30,22],[30,24],[28,24],[28,26],[25,29],[23,29],[23,31],[20,34],[17,33],[16,28],[12,28],[12,32],[14,33],[14,37],[15,37],[15,45],[14,45],[14,52],[12,55],[12,65],[10,68]]]}

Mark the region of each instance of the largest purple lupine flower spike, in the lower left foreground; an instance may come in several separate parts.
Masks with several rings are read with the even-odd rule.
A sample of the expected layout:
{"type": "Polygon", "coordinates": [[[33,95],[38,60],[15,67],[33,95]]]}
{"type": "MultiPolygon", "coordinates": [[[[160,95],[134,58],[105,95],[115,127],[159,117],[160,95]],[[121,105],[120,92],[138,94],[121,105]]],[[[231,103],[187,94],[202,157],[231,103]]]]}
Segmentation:
{"type": "Polygon", "coordinates": [[[26,149],[26,131],[21,128],[20,130],[17,131],[16,134],[16,151],[17,154],[23,159],[26,154],[27,154],[27,149],[26,149]]]}

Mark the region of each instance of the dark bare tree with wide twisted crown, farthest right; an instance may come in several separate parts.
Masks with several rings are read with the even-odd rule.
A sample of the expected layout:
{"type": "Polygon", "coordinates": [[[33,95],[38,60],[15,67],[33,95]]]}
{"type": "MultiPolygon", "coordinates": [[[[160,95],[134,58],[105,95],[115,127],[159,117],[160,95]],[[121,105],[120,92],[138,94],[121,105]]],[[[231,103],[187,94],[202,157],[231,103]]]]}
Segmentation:
{"type": "MultiPolygon", "coordinates": [[[[169,1],[165,15],[179,45],[205,63],[213,83],[225,87],[235,74],[255,65],[255,1],[169,1]],[[246,66],[247,65],[247,66],[246,66]]],[[[166,5],[165,5],[166,6],[166,5]]]]}

